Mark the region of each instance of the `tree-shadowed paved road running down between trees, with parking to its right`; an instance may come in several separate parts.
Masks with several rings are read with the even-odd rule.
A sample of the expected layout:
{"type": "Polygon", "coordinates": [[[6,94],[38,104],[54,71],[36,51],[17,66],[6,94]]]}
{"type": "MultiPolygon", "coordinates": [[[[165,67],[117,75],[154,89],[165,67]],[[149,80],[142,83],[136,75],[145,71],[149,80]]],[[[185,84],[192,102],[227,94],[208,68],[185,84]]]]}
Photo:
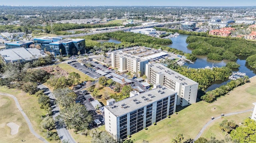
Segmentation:
{"type": "MultiPolygon", "coordinates": [[[[51,102],[53,103],[51,108],[52,108],[52,117],[55,119],[58,115],[60,115],[60,108],[58,105],[54,104],[54,101],[56,100],[56,98],[52,95],[52,92],[49,90],[49,88],[47,88],[46,86],[40,84],[38,86],[38,88],[43,89],[44,90],[44,94],[48,95],[51,102]]],[[[65,125],[60,125],[58,122],[56,123],[56,130],[57,133],[60,137],[61,141],[69,141],[70,143],[76,143],[76,141],[73,139],[73,137],[70,135],[68,129],[66,129],[65,125]]]]}

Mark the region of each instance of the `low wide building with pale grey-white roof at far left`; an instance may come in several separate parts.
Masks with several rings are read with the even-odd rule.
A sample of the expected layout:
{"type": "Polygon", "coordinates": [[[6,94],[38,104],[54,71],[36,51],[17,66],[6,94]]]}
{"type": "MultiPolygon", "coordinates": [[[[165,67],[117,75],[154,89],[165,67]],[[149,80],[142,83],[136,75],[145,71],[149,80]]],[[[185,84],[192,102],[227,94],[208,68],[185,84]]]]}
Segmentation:
{"type": "Polygon", "coordinates": [[[26,63],[46,57],[44,51],[36,48],[12,48],[0,51],[5,63],[26,63]]]}

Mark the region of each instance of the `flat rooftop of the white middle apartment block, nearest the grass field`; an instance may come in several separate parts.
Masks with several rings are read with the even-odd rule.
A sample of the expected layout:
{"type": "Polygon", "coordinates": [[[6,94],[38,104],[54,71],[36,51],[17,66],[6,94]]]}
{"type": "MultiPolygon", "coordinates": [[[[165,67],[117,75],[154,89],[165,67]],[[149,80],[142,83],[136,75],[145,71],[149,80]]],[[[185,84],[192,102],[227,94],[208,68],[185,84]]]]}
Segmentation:
{"type": "Polygon", "coordinates": [[[186,76],[179,74],[178,72],[172,71],[171,69],[161,65],[160,63],[154,63],[154,64],[150,64],[150,65],[151,65],[152,69],[163,73],[165,76],[174,80],[175,82],[182,83],[183,86],[190,86],[190,85],[198,84],[194,80],[191,80],[191,79],[187,78],[186,76]]]}

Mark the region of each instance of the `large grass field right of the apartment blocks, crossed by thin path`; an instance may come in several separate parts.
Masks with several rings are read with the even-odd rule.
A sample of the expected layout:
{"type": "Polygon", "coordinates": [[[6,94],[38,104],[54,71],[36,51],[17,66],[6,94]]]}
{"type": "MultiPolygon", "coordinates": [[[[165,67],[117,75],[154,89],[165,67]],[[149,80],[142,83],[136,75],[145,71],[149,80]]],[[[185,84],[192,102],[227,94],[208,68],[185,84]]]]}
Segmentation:
{"type": "MultiPolygon", "coordinates": [[[[185,140],[189,138],[194,139],[212,116],[217,117],[222,113],[227,114],[252,109],[252,102],[256,101],[256,96],[250,94],[251,92],[256,92],[256,90],[252,90],[252,87],[256,87],[256,77],[251,78],[250,83],[235,88],[229,95],[218,98],[214,103],[209,104],[200,101],[192,104],[179,111],[177,115],[172,115],[171,118],[166,118],[158,122],[157,125],[148,127],[148,130],[135,133],[131,139],[134,140],[134,143],[141,143],[143,140],[147,140],[150,143],[169,143],[179,133],[183,133],[185,140]],[[250,91],[250,93],[246,91],[250,91]]],[[[237,116],[239,116],[239,121],[241,122],[242,119],[248,118],[250,113],[237,116]]],[[[230,120],[233,118],[235,120],[236,116],[230,116],[229,118],[230,120]]],[[[219,128],[217,129],[217,126],[218,123],[216,127],[212,127],[208,132],[218,132],[219,128]]],[[[207,131],[204,135],[207,138],[209,137],[207,131]]],[[[222,138],[222,135],[219,137],[219,134],[216,133],[216,138],[222,138]]]]}

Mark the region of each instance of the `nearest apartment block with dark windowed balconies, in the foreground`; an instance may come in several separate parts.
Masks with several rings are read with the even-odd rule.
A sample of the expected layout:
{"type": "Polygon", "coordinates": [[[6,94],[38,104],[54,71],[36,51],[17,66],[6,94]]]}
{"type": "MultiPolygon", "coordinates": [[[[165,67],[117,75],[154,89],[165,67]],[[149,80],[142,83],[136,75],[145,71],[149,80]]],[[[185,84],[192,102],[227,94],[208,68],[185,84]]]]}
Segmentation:
{"type": "Polygon", "coordinates": [[[175,113],[177,92],[164,86],[132,94],[132,97],[105,106],[105,129],[124,139],[175,113]]]}

